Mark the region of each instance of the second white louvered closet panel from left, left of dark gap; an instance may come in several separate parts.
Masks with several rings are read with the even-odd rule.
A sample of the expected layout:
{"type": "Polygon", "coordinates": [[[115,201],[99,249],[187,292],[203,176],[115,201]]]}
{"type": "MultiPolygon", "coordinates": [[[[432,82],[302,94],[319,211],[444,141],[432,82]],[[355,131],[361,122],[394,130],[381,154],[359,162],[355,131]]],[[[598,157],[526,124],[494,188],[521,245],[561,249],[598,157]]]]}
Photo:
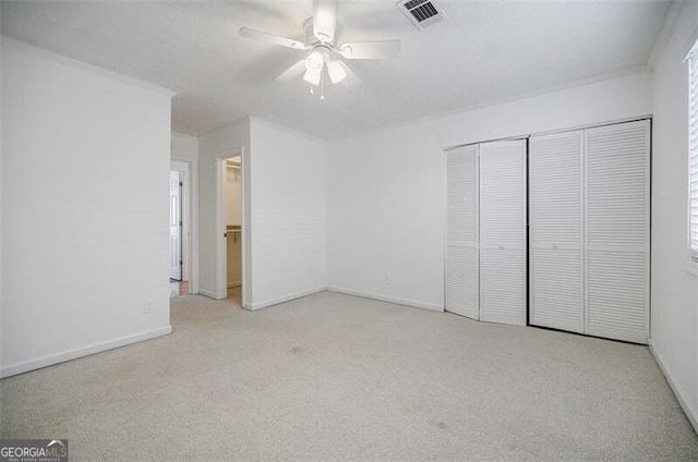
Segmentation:
{"type": "Polygon", "coordinates": [[[480,320],[526,324],[526,141],[480,145],[480,320]]]}

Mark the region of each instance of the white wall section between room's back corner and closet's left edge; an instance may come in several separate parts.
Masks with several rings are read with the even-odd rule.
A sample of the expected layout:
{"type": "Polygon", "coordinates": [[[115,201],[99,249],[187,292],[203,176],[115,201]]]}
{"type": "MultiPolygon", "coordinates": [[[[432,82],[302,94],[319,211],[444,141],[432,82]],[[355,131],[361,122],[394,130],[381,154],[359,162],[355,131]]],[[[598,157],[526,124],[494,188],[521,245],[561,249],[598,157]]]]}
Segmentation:
{"type": "Polygon", "coordinates": [[[327,147],[332,290],[444,306],[445,177],[437,121],[327,147]]]}

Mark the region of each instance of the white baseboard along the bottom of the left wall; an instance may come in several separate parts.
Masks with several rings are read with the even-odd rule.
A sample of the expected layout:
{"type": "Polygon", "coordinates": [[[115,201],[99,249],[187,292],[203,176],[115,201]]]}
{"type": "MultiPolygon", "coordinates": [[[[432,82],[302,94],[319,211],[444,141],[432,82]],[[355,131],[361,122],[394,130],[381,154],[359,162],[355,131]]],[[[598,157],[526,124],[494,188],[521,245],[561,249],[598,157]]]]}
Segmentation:
{"type": "Polygon", "coordinates": [[[151,340],[156,337],[167,336],[172,332],[172,326],[167,325],[157,329],[146,330],[144,332],[133,333],[131,336],[119,337],[106,342],[93,343],[91,345],[64,351],[58,354],[49,354],[36,357],[34,360],[15,363],[0,368],[0,378],[11,377],[13,375],[27,373],[29,370],[40,369],[41,367],[52,366],[55,364],[64,363],[65,361],[76,360],[79,357],[88,356],[103,351],[113,350],[116,348],[125,346],[131,343],[151,340]]]}

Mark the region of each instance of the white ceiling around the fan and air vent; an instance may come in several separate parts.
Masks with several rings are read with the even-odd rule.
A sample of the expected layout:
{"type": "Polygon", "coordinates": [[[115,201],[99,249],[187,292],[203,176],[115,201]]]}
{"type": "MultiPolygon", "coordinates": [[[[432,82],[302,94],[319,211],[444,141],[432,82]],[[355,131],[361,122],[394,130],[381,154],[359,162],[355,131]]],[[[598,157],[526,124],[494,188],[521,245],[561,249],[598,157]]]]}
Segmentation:
{"type": "Polygon", "coordinates": [[[399,38],[390,61],[351,61],[362,85],[275,77],[304,56],[238,36],[303,39],[311,0],[3,1],[2,35],[179,92],[172,129],[202,134],[244,115],[325,139],[645,65],[666,1],[437,0],[448,21],[419,32],[395,0],[347,0],[339,41],[399,38]]]}

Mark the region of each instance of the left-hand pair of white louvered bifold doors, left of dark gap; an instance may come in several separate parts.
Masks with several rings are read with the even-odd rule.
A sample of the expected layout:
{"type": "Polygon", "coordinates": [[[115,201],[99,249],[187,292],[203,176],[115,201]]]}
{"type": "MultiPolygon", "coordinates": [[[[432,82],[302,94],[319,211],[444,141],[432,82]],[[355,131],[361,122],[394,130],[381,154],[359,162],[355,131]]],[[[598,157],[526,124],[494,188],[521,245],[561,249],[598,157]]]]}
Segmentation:
{"type": "Polygon", "coordinates": [[[446,309],[526,324],[526,141],[446,155],[446,309]]]}

